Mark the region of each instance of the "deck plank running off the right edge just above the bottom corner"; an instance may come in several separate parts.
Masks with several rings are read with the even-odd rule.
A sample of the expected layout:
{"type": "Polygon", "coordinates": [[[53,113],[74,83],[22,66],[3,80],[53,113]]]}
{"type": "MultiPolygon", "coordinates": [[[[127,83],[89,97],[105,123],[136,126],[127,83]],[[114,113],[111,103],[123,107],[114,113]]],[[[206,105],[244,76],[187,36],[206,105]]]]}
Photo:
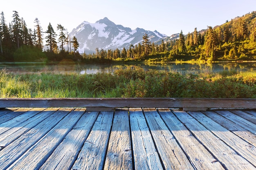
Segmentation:
{"type": "Polygon", "coordinates": [[[210,130],[213,134],[215,134],[218,138],[224,141],[225,144],[238,152],[239,155],[247,159],[247,161],[250,163],[256,165],[255,146],[252,146],[226,128],[223,128],[220,124],[216,123],[201,112],[189,112],[189,114],[193,116],[197,121],[199,121],[204,127],[210,130]]]}

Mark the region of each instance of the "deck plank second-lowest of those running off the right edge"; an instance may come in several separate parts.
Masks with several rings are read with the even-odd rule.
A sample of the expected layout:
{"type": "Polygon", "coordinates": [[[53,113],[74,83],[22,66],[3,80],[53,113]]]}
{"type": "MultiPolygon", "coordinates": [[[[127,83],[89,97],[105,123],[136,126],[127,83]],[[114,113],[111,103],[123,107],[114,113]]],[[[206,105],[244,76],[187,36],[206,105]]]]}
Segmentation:
{"type": "Polygon", "coordinates": [[[228,129],[229,131],[243,138],[245,141],[256,146],[256,135],[253,134],[252,132],[249,132],[245,128],[242,128],[241,126],[239,126],[239,124],[235,124],[233,121],[230,121],[229,119],[218,115],[214,111],[206,111],[202,113],[210,117],[212,120],[216,121],[218,124],[220,124],[224,128],[228,129]]]}

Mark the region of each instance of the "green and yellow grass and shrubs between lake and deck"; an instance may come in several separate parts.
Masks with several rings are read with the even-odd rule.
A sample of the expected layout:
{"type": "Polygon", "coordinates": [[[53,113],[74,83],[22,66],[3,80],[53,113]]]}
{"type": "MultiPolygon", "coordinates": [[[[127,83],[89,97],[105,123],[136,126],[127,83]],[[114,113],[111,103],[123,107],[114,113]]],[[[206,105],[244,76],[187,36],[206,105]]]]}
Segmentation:
{"type": "Polygon", "coordinates": [[[256,98],[256,73],[181,75],[143,69],[97,74],[20,74],[0,71],[0,97],[256,98]]]}

